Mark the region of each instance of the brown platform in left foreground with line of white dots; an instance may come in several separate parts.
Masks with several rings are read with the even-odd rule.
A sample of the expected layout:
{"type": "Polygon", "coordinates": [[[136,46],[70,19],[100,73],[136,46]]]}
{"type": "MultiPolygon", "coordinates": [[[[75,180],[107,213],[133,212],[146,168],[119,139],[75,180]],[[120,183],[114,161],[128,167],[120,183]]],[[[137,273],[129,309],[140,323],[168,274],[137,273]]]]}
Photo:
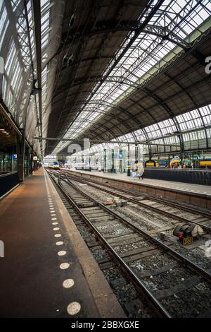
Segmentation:
{"type": "Polygon", "coordinates": [[[124,317],[49,176],[0,202],[1,317],[124,317]]]}

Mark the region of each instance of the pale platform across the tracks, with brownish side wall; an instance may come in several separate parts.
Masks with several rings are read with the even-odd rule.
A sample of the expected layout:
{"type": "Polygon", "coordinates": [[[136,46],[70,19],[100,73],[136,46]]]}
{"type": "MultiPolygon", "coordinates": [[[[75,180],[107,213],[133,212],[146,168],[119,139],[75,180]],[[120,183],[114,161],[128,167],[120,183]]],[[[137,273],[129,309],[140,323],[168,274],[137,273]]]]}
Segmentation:
{"type": "MultiPolygon", "coordinates": [[[[67,170],[67,169],[65,169],[67,170]]],[[[211,186],[200,184],[187,184],[181,182],[170,182],[157,179],[139,179],[128,177],[127,174],[110,174],[96,171],[82,171],[71,169],[73,174],[81,174],[83,177],[92,177],[110,184],[122,186],[127,189],[139,191],[140,193],[152,194],[162,198],[189,203],[211,210],[211,186]]]]}

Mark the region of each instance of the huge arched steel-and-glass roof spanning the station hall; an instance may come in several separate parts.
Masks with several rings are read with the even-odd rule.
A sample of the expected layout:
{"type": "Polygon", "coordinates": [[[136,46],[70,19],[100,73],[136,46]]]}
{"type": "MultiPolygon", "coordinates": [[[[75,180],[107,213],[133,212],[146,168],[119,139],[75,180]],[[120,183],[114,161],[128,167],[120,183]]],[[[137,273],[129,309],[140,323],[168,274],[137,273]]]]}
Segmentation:
{"type": "Polygon", "coordinates": [[[1,99],[39,152],[69,143],[34,136],[211,148],[209,0],[0,0],[0,22],[1,99]]]}

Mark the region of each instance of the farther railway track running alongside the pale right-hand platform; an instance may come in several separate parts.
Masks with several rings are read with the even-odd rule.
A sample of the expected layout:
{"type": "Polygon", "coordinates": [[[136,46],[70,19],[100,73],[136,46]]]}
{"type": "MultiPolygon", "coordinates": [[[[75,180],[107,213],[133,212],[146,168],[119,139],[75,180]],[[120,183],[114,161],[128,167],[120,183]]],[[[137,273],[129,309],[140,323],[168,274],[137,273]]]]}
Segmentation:
{"type": "Polygon", "coordinates": [[[203,227],[204,230],[211,232],[211,218],[210,213],[200,211],[198,209],[193,209],[189,207],[181,206],[178,203],[164,202],[160,198],[152,198],[144,194],[136,194],[133,191],[127,189],[120,189],[116,186],[111,186],[110,184],[105,184],[89,179],[81,179],[80,177],[75,177],[68,172],[63,172],[68,179],[75,179],[77,182],[84,184],[89,184],[93,188],[105,191],[108,194],[118,196],[122,199],[141,206],[143,208],[149,208],[151,211],[160,213],[169,218],[179,220],[182,223],[193,223],[203,227]]]}

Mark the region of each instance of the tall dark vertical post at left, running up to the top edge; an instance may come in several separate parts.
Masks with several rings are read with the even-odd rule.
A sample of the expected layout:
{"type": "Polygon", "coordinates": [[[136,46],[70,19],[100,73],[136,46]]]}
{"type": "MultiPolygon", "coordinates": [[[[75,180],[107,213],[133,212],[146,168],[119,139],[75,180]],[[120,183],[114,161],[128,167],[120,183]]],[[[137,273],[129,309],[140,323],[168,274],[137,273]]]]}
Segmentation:
{"type": "MultiPolygon", "coordinates": [[[[40,0],[33,0],[33,17],[34,17],[34,39],[37,59],[37,88],[39,92],[39,124],[40,136],[42,137],[42,112],[41,112],[41,6],[40,0]]],[[[43,156],[42,140],[40,140],[41,157],[43,156]]]]}

